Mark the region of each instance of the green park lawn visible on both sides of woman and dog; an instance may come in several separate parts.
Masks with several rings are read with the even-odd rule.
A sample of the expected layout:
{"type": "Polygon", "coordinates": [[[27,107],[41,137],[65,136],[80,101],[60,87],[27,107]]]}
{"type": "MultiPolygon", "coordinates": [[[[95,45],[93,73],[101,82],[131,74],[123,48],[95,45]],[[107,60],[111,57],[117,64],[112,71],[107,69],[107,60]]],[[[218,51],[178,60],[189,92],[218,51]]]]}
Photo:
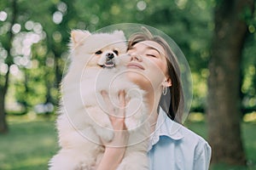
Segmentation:
{"type": "MultiPolygon", "coordinates": [[[[207,138],[204,122],[186,122],[195,133],[207,138]]],[[[228,167],[217,165],[217,169],[256,169],[256,123],[242,123],[242,135],[249,167],[228,167]]],[[[58,150],[55,122],[35,119],[27,121],[22,117],[10,119],[9,133],[0,135],[1,170],[45,170],[51,156],[58,150]]]]}

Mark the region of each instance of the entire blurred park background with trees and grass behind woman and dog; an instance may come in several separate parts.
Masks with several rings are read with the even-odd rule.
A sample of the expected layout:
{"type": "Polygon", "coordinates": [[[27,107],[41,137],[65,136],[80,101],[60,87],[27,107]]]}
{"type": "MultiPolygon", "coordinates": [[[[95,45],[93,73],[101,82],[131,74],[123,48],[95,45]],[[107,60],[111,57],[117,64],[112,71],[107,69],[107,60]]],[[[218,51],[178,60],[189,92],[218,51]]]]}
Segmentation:
{"type": "Polygon", "coordinates": [[[0,169],[47,169],[73,29],[164,31],[192,72],[184,126],[212,145],[211,169],[256,169],[255,0],[1,0],[0,169]]]}

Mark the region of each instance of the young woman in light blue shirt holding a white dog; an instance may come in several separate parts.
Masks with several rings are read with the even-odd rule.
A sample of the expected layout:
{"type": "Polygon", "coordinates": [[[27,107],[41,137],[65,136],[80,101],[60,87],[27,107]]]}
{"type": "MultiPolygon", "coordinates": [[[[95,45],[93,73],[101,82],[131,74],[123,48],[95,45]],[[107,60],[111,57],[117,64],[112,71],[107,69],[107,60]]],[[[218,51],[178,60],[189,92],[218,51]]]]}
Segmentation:
{"type": "MultiPolygon", "coordinates": [[[[127,76],[147,92],[148,116],[151,124],[149,167],[152,170],[206,170],[211,159],[211,147],[205,139],[182,125],[183,89],[175,54],[161,37],[148,30],[131,36],[127,53],[130,62],[127,76]],[[171,97],[170,97],[171,96],[171,97]]],[[[108,110],[113,111],[106,92],[102,92],[108,110]]],[[[119,93],[119,114],[125,115],[125,93],[119,93]]],[[[125,130],[125,119],[109,116],[113,129],[125,130]]],[[[127,133],[116,133],[111,143],[125,144],[127,133]]],[[[125,147],[106,150],[97,169],[116,169],[125,154],[125,147]]]]}

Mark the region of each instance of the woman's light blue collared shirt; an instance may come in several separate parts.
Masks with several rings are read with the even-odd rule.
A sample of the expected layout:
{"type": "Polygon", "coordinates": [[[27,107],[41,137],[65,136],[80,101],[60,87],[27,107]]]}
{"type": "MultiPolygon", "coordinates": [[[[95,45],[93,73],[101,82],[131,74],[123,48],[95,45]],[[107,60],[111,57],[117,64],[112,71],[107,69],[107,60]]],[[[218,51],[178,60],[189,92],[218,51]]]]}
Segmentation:
{"type": "Polygon", "coordinates": [[[205,139],[173,122],[160,109],[156,129],[150,139],[148,157],[151,170],[207,170],[211,147],[205,139]]]}

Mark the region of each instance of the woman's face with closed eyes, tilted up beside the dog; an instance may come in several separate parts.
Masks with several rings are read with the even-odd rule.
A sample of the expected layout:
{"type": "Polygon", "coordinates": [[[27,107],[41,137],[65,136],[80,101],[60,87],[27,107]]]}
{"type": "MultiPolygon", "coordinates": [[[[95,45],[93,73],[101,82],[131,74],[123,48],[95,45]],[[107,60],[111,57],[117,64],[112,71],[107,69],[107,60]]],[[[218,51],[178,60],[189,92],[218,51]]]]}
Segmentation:
{"type": "Polygon", "coordinates": [[[127,53],[131,55],[127,65],[127,75],[131,82],[135,82],[144,90],[152,90],[161,89],[162,83],[169,81],[166,53],[159,43],[137,42],[127,53]]]}

